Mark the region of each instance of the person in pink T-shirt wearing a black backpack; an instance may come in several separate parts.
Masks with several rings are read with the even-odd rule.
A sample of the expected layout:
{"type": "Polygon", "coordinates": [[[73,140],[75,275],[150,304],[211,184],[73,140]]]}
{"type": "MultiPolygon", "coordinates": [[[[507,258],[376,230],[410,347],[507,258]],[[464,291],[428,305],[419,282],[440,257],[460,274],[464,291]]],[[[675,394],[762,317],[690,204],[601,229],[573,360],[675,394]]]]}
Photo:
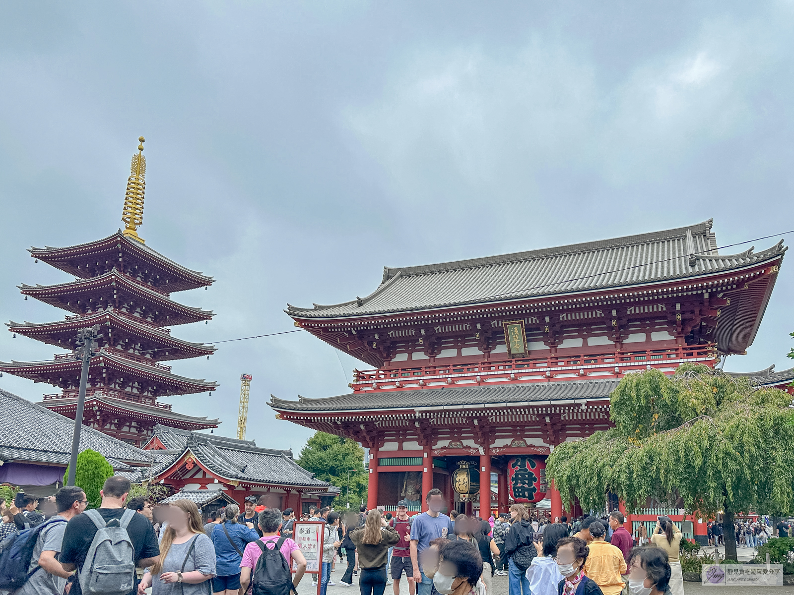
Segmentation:
{"type": "Polygon", "coordinates": [[[249,543],[243,551],[240,593],[247,593],[252,585],[252,595],[297,595],[295,586],[306,572],[306,558],[295,541],[279,536],[281,511],[264,509],[259,513],[257,524],[262,537],[249,543]],[[294,577],[290,574],[292,562],[296,566],[294,577]]]}

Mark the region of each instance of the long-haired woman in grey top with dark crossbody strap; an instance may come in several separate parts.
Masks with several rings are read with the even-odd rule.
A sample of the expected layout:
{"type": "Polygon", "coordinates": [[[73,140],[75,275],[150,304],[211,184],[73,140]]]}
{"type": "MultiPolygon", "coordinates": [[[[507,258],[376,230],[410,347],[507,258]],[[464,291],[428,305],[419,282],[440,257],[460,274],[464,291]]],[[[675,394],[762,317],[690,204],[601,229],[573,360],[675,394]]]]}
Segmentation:
{"type": "Polygon", "coordinates": [[[168,527],[160,542],[160,557],[138,585],[139,595],[205,595],[212,593],[215,548],[204,533],[195,502],[175,500],[168,510],[168,527]]]}

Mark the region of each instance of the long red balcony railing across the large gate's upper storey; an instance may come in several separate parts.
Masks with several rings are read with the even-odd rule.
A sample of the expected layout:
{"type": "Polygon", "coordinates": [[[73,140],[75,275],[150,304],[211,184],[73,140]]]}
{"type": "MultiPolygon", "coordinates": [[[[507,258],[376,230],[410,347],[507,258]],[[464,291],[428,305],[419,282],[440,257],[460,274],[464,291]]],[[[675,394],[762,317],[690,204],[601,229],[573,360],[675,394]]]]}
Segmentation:
{"type": "Polygon", "coordinates": [[[661,349],[609,351],[576,355],[549,354],[537,358],[480,361],[476,363],[433,363],[426,366],[353,370],[353,390],[421,388],[456,382],[562,382],[573,375],[618,378],[626,372],[677,367],[684,362],[707,366],[715,363],[715,344],[677,345],[661,349]],[[565,376],[561,376],[565,374],[565,376]]]}

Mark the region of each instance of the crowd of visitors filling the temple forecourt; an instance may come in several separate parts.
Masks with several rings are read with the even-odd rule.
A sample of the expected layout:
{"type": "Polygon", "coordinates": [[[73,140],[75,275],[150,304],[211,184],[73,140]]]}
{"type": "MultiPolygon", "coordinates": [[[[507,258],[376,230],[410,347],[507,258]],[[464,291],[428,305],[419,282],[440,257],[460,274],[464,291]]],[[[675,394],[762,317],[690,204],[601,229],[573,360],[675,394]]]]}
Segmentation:
{"type": "MultiPolygon", "coordinates": [[[[291,595],[307,562],[295,542],[295,512],[246,497],[202,514],[182,499],[154,505],[129,498],[124,477],[106,480],[96,509],[79,487],[37,500],[17,493],[0,501],[0,593],[10,595],[291,595]]],[[[346,560],[342,587],[357,578],[361,595],[489,595],[492,577],[507,576],[510,595],[683,595],[678,558],[682,533],[659,516],[650,535],[626,531],[621,512],[569,520],[515,504],[484,520],[441,510],[439,489],[425,495],[426,512],[379,509],[344,515],[311,507],[301,520],[322,523],[314,588],[326,595],[331,574],[346,560]],[[534,512],[534,516],[532,513],[534,512]]],[[[709,523],[709,539],[720,525],[709,523]]],[[[788,536],[784,521],[738,522],[737,541],[788,536]]]]}

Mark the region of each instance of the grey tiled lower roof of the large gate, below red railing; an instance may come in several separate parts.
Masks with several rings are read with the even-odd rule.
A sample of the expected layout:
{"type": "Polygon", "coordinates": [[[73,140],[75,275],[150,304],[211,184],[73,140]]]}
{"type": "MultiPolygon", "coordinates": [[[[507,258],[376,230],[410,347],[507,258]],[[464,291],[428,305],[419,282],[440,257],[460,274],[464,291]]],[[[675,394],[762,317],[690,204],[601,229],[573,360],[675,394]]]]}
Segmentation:
{"type": "Polygon", "coordinates": [[[406,409],[458,405],[540,404],[545,401],[607,398],[618,386],[617,380],[569,380],[502,384],[492,386],[458,386],[440,389],[390,390],[360,392],[338,397],[284,401],[271,395],[269,405],[276,411],[365,411],[368,409],[406,409]]]}

